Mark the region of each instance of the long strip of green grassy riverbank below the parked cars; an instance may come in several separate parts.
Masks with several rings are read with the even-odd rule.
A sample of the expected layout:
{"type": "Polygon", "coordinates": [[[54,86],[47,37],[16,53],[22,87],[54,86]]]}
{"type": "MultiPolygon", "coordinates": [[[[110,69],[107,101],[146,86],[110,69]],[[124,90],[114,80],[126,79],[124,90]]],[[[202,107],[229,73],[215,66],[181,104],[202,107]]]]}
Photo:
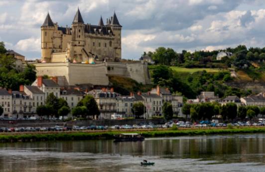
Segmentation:
{"type": "Polygon", "coordinates": [[[74,141],[114,139],[120,133],[139,133],[145,138],[151,137],[177,137],[196,135],[221,135],[221,134],[251,134],[265,133],[265,127],[235,128],[235,129],[187,129],[187,130],[152,130],[152,131],[105,131],[105,132],[61,132],[61,133],[31,133],[1,134],[0,143],[6,142],[42,142],[42,141],[74,141]]]}

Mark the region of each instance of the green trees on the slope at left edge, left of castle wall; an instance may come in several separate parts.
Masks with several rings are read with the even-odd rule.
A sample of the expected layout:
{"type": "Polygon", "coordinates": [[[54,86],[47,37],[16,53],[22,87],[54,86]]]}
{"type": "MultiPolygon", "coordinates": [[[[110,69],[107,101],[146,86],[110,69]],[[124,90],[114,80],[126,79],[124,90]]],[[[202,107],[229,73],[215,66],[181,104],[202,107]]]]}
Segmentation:
{"type": "Polygon", "coordinates": [[[0,87],[18,90],[19,85],[31,85],[36,79],[36,68],[26,64],[22,72],[15,69],[15,59],[6,55],[4,43],[0,42],[0,87]]]}

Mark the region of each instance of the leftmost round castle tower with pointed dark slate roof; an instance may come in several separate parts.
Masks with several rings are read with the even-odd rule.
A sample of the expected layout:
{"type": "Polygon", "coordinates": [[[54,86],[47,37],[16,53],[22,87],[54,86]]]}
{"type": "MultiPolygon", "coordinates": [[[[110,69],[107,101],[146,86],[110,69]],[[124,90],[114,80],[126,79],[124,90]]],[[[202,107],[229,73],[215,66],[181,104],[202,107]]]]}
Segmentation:
{"type": "Polygon", "coordinates": [[[52,36],[54,24],[49,13],[47,14],[44,23],[41,26],[41,60],[50,62],[51,52],[53,49],[52,36]]]}

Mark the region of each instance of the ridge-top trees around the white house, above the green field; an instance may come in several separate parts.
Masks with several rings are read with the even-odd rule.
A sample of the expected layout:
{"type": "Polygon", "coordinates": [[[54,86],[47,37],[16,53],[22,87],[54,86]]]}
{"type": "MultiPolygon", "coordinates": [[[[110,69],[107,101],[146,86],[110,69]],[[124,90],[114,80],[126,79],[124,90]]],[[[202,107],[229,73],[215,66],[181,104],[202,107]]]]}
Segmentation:
{"type": "Polygon", "coordinates": [[[175,52],[172,48],[158,47],[154,52],[143,52],[142,55],[148,55],[156,64],[177,65],[184,67],[230,67],[232,64],[236,67],[242,68],[246,65],[251,66],[251,61],[265,60],[265,47],[250,47],[245,45],[238,45],[235,48],[228,47],[226,49],[213,51],[195,51],[188,52],[182,50],[175,52]],[[226,51],[233,53],[231,58],[224,58],[221,63],[216,60],[219,51],[226,51]]]}

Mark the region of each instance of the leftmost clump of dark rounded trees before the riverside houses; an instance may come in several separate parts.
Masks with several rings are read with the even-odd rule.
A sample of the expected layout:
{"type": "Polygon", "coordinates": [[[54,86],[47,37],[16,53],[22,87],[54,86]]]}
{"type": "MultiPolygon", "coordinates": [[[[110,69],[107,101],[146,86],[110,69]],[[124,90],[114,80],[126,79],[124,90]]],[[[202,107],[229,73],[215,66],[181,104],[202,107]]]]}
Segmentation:
{"type": "Polygon", "coordinates": [[[46,100],[45,105],[40,105],[36,109],[40,117],[43,116],[67,116],[70,113],[68,103],[63,98],[57,98],[53,93],[50,93],[46,100]]]}

